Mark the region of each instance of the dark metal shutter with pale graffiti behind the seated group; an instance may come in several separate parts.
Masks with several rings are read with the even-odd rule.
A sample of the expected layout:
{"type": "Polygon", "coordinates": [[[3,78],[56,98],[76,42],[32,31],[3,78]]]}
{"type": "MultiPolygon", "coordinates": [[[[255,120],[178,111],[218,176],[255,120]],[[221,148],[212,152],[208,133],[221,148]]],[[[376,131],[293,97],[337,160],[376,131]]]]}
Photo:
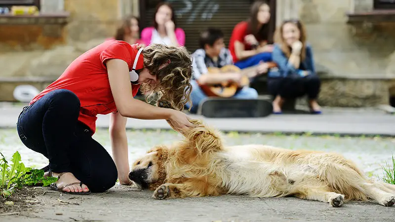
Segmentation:
{"type": "MultiPolygon", "coordinates": [[[[160,0],[140,1],[142,27],[153,25],[155,6],[160,0]]],[[[249,17],[253,0],[164,0],[170,2],[175,10],[177,27],[185,31],[186,47],[194,52],[199,48],[199,33],[208,27],[220,28],[228,47],[233,28],[249,17]]],[[[272,19],[276,18],[275,0],[270,2],[272,19]]],[[[271,21],[271,24],[276,24],[271,21]]],[[[274,30],[274,25],[273,30],[274,30]]]]}

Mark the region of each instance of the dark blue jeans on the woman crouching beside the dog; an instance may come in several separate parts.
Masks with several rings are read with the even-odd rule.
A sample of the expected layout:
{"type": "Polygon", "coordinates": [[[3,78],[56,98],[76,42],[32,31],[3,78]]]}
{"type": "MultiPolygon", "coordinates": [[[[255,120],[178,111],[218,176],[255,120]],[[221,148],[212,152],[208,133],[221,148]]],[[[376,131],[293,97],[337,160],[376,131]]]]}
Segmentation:
{"type": "Polygon", "coordinates": [[[22,143],[44,155],[52,172],[71,172],[92,192],[115,185],[118,172],[110,154],[78,121],[80,102],[69,90],[49,92],[23,108],[17,130],[22,143]]]}

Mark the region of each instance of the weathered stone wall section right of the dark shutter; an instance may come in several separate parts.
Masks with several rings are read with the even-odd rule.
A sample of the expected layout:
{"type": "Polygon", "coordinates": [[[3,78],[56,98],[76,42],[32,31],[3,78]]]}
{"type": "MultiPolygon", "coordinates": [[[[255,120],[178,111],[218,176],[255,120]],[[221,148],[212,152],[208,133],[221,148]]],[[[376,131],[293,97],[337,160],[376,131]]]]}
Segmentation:
{"type": "Polygon", "coordinates": [[[395,23],[348,23],[347,13],[373,10],[373,0],[277,0],[282,19],[306,25],[322,77],[319,102],[326,106],[388,104],[395,86],[395,23]]]}

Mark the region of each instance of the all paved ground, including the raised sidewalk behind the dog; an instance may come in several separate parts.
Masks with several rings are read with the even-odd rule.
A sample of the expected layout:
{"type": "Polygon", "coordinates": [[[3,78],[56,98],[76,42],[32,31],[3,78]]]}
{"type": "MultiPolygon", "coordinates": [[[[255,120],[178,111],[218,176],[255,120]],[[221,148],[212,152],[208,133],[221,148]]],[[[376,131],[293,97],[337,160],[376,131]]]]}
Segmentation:
{"type": "MultiPolygon", "coordinates": [[[[21,106],[0,106],[0,151],[10,157],[16,150],[22,161],[30,167],[42,167],[47,160],[25,148],[14,128],[21,106]]],[[[206,119],[206,122],[227,131],[258,132],[314,132],[346,134],[395,135],[394,115],[376,110],[327,109],[321,116],[281,115],[262,119],[206,119]],[[354,125],[352,125],[354,124],[354,125]]],[[[111,153],[106,116],[100,116],[99,128],[94,138],[111,153]]],[[[167,129],[167,123],[154,120],[129,120],[129,128],[167,129]]],[[[159,144],[180,140],[174,131],[128,130],[129,162],[159,144]]],[[[283,134],[231,132],[225,135],[228,145],[249,143],[268,144],[290,149],[335,151],[352,159],[363,171],[375,179],[383,176],[382,166],[395,153],[394,137],[339,137],[303,136],[283,134]]],[[[41,188],[39,188],[41,189],[41,188]]],[[[89,196],[59,195],[43,188],[28,210],[18,210],[15,215],[0,216],[0,222],[46,221],[395,221],[395,207],[386,208],[375,203],[346,203],[341,208],[329,204],[297,198],[251,198],[247,196],[220,196],[178,200],[154,200],[150,191],[138,191],[117,185],[109,192],[89,196]]]]}

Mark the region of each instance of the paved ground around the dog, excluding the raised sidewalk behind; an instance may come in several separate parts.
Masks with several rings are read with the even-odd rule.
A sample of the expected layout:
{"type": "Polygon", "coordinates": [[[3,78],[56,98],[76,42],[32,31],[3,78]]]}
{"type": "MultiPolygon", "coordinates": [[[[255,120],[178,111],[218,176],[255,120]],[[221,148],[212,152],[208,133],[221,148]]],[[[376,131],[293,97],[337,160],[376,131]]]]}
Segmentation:
{"type": "MultiPolygon", "coordinates": [[[[130,162],[158,144],[170,144],[181,139],[172,131],[128,130],[130,162]]],[[[108,130],[99,129],[94,138],[110,153],[108,130]]],[[[354,160],[373,178],[382,177],[381,166],[391,160],[395,139],[354,138],[336,136],[285,136],[263,134],[225,135],[228,145],[246,143],[269,144],[290,149],[335,151],[354,160]]],[[[15,129],[0,129],[0,150],[10,157],[16,150],[27,166],[42,167],[45,158],[23,146],[15,129]]],[[[39,188],[41,189],[41,188],[39,188]]],[[[151,191],[117,185],[108,193],[89,196],[71,196],[44,188],[47,192],[35,199],[35,204],[17,215],[0,216],[0,221],[383,221],[393,222],[395,207],[386,208],[375,203],[353,202],[341,208],[329,204],[297,198],[251,198],[247,196],[220,196],[178,200],[154,200],[151,191]],[[66,201],[66,202],[65,202],[66,201]],[[61,215],[56,215],[61,214],[61,215]]]]}

